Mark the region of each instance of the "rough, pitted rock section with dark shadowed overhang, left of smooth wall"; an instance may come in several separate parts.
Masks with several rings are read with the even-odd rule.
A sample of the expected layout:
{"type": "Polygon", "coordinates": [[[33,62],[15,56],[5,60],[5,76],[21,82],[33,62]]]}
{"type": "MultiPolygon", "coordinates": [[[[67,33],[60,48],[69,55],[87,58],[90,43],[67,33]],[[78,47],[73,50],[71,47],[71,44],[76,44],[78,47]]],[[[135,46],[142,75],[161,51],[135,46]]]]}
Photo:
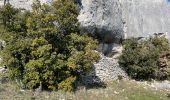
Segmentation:
{"type": "Polygon", "coordinates": [[[78,16],[82,28],[106,42],[123,37],[122,9],[119,0],[82,0],[78,16]]]}

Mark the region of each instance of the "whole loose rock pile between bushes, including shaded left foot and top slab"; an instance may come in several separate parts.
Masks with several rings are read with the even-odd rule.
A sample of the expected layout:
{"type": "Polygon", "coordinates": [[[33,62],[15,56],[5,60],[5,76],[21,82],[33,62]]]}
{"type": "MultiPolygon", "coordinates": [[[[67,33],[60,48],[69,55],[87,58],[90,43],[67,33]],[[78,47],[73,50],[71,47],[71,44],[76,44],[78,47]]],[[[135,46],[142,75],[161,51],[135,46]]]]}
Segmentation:
{"type": "Polygon", "coordinates": [[[100,54],[101,59],[98,63],[94,64],[93,71],[83,76],[83,82],[86,84],[106,82],[117,80],[118,77],[128,78],[125,71],[119,66],[118,56],[121,54],[122,46],[115,45],[112,52],[117,52],[112,57],[100,54]]]}

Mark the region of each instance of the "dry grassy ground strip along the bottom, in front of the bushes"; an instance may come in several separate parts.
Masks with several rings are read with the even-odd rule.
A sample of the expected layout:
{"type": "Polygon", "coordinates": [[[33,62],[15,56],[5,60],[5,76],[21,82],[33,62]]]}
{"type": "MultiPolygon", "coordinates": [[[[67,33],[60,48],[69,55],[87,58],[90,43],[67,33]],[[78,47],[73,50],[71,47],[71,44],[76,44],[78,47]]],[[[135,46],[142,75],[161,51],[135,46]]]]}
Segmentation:
{"type": "Polygon", "coordinates": [[[81,88],[76,93],[21,90],[14,82],[0,84],[0,100],[170,100],[170,91],[136,81],[109,82],[106,88],[81,88]]]}

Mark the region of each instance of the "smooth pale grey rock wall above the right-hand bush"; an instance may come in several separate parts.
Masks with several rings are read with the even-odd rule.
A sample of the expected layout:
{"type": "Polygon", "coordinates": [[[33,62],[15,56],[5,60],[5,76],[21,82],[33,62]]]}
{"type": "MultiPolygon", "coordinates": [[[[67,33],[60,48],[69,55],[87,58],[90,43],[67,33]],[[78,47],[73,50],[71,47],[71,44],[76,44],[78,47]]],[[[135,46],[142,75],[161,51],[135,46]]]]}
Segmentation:
{"type": "Polygon", "coordinates": [[[127,27],[126,38],[147,37],[153,33],[166,33],[170,37],[168,0],[120,0],[120,3],[127,27]]]}

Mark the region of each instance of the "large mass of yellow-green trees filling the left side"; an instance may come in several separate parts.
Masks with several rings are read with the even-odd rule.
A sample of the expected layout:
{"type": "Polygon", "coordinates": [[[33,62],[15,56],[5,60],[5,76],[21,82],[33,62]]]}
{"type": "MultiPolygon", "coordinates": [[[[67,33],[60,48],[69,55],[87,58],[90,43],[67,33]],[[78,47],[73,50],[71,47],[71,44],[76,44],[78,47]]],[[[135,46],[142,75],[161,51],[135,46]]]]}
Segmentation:
{"type": "Polygon", "coordinates": [[[52,6],[36,1],[32,11],[0,8],[1,57],[11,79],[22,88],[72,91],[81,73],[99,59],[97,41],[79,33],[73,0],[52,6]]]}

